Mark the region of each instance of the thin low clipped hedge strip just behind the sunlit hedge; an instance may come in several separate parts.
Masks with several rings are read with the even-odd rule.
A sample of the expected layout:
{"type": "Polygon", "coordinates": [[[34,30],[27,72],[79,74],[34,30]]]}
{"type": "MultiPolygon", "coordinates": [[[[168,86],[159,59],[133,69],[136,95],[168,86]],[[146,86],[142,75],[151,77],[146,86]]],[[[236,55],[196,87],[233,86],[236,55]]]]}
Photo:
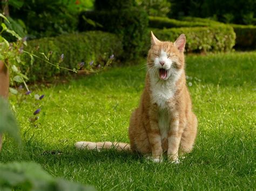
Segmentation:
{"type": "Polygon", "coordinates": [[[172,27],[215,26],[224,25],[210,19],[185,17],[184,20],[170,19],[167,17],[149,17],[149,26],[157,29],[172,27]],[[187,20],[186,20],[187,19],[187,20]]]}

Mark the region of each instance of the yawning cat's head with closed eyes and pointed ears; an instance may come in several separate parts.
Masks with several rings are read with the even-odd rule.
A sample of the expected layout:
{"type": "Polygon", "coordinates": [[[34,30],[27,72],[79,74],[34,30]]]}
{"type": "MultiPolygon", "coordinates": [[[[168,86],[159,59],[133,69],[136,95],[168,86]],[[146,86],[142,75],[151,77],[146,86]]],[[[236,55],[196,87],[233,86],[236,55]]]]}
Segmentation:
{"type": "Polygon", "coordinates": [[[149,70],[160,80],[169,77],[184,68],[185,34],[174,42],[160,41],[151,32],[151,48],[147,56],[149,70]]]}

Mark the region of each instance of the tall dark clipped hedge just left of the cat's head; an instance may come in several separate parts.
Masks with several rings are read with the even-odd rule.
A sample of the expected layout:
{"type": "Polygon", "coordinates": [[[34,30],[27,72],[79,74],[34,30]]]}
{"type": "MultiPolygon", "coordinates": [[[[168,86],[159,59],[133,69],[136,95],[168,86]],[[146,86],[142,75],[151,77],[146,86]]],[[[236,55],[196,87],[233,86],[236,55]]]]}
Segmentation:
{"type": "MultiPolygon", "coordinates": [[[[118,34],[123,38],[123,58],[138,58],[144,47],[148,17],[142,8],[111,11],[88,11],[79,16],[79,30],[102,30],[118,34]],[[91,24],[91,21],[96,24],[91,24]]],[[[113,43],[116,43],[113,41],[113,43]]]]}

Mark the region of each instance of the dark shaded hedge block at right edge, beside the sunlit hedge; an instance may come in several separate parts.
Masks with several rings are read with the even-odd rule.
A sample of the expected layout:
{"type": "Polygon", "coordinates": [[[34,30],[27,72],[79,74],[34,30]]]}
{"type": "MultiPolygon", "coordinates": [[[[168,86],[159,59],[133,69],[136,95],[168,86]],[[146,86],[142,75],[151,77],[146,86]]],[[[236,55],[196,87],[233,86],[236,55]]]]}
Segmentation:
{"type": "Polygon", "coordinates": [[[235,47],[241,49],[256,48],[256,26],[253,25],[231,25],[237,35],[235,47]]]}

